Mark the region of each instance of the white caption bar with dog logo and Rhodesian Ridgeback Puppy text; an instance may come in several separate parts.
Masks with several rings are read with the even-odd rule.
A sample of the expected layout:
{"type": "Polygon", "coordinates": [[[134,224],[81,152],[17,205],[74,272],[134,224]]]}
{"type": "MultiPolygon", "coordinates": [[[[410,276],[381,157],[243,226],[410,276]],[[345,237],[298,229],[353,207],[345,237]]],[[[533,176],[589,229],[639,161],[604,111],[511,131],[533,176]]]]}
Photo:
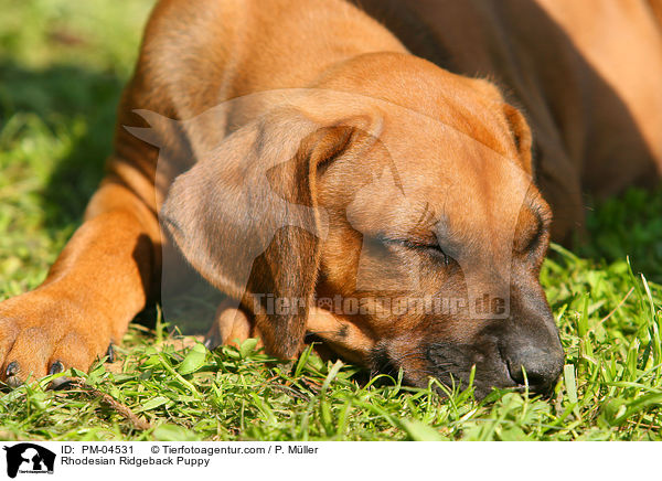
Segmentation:
{"type": "MultiPolygon", "coordinates": [[[[159,481],[633,479],[654,474],[659,443],[0,442],[0,479],[159,481]],[[649,460],[650,462],[637,462],[649,460]],[[417,478],[417,477],[426,478],[417,478]],[[434,478],[428,478],[433,475],[434,478]],[[468,478],[469,477],[469,478],[468,478]],[[562,478],[563,477],[563,478],[562,478]],[[216,478],[213,478],[216,479],[216,478]],[[235,478],[233,478],[235,479],[235,478]]],[[[656,475],[656,474],[655,474],[656,475]]],[[[655,478],[656,479],[656,478],[655,478]]]]}

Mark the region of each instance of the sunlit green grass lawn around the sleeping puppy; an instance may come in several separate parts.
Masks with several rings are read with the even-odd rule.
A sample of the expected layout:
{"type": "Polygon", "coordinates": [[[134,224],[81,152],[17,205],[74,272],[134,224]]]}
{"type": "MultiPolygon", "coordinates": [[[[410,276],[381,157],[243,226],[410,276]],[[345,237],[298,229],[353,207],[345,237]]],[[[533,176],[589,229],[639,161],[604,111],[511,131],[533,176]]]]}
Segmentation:
{"type": "MultiPolygon", "coordinates": [[[[0,0],[0,300],[36,287],[78,225],[150,4],[0,0]]],[[[85,384],[0,391],[0,439],[661,439],[661,212],[660,192],[630,191],[591,213],[587,246],[551,253],[542,281],[567,352],[551,400],[442,399],[250,342],[210,353],[152,311],[118,361],[75,373],[85,384]]]]}

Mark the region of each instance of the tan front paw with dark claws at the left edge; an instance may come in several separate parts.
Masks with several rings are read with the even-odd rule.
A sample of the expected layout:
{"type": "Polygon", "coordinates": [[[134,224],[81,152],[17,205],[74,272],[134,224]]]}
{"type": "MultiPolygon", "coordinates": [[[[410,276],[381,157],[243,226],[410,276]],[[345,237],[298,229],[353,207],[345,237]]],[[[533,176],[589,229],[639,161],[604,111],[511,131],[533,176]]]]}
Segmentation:
{"type": "Polygon", "coordinates": [[[0,303],[0,380],[12,387],[110,352],[109,322],[71,299],[38,290],[0,303]]]}

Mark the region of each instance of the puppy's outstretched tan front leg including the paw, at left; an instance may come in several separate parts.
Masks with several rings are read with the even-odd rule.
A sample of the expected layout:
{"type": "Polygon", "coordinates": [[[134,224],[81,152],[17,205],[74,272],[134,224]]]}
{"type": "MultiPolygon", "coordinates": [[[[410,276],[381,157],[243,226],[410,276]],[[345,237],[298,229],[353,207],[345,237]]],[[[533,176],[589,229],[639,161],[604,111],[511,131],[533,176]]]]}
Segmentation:
{"type": "Polygon", "coordinates": [[[43,285],[0,303],[0,378],[8,384],[87,368],[145,307],[160,258],[156,211],[142,200],[154,199],[153,183],[142,182],[140,195],[127,185],[126,175],[109,174],[43,285]]]}

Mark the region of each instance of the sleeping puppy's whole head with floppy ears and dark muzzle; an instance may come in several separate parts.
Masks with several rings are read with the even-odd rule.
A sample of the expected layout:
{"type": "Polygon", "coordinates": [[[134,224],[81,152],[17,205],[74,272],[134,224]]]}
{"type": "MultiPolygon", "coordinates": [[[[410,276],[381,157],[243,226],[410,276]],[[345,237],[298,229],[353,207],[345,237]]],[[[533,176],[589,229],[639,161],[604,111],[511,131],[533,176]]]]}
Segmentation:
{"type": "Polygon", "coordinates": [[[478,395],[525,377],[548,392],[563,349],[538,282],[551,212],[530,147],[491,84],[366,55],[224,138],[162,218],[277,355],[308,323],[416,385],[467,383],[474,366],[478,395]]]}

